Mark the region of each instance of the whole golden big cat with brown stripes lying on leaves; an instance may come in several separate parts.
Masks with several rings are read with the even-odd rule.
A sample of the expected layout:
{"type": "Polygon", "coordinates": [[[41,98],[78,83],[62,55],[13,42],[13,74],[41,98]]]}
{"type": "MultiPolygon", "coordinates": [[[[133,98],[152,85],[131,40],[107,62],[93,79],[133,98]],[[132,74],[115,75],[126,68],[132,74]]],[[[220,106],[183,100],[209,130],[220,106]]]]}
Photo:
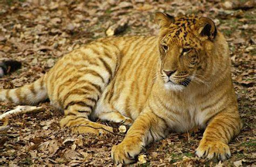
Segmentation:
{"type": "Polygon", "coordinates": [[[33,104],[48,97],[64,111],[60,125],[78,133],[112,131],[94,117],[132,125],[112,148],[115,163],[132,163],[148,143],[198,126],[206,129],[196,154],[226,159],[241,120],[225,38],[208,18],[157,13],[156,20],[158,36],[91,42],[35,83],[0,90],[0,100],[33,104]]]}

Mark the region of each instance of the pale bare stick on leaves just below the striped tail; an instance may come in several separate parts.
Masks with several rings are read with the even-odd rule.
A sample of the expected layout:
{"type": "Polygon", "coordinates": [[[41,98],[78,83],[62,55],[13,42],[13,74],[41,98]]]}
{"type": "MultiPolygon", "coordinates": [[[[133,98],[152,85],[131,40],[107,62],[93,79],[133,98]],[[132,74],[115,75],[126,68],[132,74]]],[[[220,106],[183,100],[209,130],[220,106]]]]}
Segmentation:
{"type": "Polygon", "coordinates": [[[24,114],[24,113],[37,113],[42,111],[42,107],[36,106],[17,106],[15,109],[7,111],[0,115],[0,120],[7,120],[10,116],[17,115],[17,114],[24,114]]]}

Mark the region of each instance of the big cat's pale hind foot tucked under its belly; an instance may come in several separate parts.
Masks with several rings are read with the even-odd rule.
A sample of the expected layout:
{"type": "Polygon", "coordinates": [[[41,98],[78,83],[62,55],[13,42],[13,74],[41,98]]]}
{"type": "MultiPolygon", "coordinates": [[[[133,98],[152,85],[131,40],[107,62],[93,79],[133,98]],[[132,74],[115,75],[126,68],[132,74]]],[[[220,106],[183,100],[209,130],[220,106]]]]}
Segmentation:
{"type": "Polygon", "coordinates": [[[116,123],[123,123],[124,125],[129,125],[129,126],[131,126],[133,123],[133,120],[131,118],[121,115],[121,113],[119,113],[118,111],[100,113],[98,117],[101,120],[107,120],[107,121],[116,122],[116,123]]]}

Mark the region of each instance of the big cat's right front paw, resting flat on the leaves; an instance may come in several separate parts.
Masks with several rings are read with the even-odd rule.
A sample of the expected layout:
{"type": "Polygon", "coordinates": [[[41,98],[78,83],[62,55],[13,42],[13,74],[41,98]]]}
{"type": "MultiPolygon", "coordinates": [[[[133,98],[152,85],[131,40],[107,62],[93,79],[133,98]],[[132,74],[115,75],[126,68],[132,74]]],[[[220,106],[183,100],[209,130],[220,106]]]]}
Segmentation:
{"type": "Polygon", "coordinates": [[[196,155],[202,158],[216,158],[225,161],[231,156],[231,153],[228,145],[221,141],[201,139],[199,147],[196,148],[196,155]]]}

